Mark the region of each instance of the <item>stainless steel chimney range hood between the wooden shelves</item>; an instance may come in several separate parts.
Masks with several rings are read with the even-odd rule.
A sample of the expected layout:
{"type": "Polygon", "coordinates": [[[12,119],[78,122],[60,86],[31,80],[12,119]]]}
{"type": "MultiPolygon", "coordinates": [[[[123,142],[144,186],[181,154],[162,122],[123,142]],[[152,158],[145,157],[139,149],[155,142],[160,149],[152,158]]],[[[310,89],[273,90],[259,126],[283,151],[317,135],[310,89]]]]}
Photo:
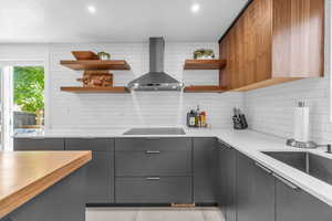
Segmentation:
{"type": "Polygon", "coordinates": [[[183,83],[164,72],[165,41],[149,38],[149,72],[128,83],[132,91],[180,91],[183,83]]]}

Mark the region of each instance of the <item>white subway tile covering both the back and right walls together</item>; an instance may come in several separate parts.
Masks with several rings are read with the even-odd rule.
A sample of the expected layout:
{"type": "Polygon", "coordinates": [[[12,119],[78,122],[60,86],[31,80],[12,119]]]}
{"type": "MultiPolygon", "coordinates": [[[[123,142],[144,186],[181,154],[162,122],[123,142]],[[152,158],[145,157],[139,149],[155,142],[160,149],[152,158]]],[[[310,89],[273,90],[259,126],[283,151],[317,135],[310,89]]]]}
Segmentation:
{"type": "MultiPolygon", "coordinates": [[[[217,43],[166,42],[165,71],[186,85],[217,85],[218,71],[184,71],[186,59],[196,49],[218,52],[217,43]]],[[[49,64],[49,124],[52,129],[112,128],[132,126],[181,126],[186,113],[200,104],[215,128],[230,128],[232,107],[245,107],[249,127],[280,137],[292,137],[293,107],[307,101],[311,107],[311,138],[332,141],[330,123],[330,76],[307,78],[246,93],[183,94],[178,92],[141,92],[133,94],[71,94],[61,86],[79,86],[74,72],[60,65],[72,60],[71,51],[111,52],[112,59],[125,59],[131,71],[114,71],[116,86],[148,72],[148,43],[108,44],[0,44],[0,60],[44,60],[49,64]]],[[[218,53],[216,54],[218,57],[218,53]]]]}

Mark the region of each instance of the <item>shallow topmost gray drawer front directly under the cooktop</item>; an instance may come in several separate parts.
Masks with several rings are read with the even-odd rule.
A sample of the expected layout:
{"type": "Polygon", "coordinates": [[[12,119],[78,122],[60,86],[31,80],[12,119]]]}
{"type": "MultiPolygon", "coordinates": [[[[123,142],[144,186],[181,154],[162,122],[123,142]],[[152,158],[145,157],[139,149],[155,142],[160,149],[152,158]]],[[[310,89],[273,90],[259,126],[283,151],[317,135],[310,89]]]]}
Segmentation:
{"type": "Polygon", "coordinates": [[[191,150],[190,138],[118,138],[116,150],[191,150]]]}

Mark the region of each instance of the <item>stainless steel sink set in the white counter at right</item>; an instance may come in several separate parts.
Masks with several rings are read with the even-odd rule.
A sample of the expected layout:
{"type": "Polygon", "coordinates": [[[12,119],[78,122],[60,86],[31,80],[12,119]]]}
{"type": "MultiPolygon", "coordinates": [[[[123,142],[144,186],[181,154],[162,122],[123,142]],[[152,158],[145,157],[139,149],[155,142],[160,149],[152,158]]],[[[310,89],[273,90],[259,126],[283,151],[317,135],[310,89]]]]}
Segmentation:
{"type": "Polygon", "coordinates": [[[262,151],[277,160],[332,185],[332,159],[307,151],[262,151]]]}

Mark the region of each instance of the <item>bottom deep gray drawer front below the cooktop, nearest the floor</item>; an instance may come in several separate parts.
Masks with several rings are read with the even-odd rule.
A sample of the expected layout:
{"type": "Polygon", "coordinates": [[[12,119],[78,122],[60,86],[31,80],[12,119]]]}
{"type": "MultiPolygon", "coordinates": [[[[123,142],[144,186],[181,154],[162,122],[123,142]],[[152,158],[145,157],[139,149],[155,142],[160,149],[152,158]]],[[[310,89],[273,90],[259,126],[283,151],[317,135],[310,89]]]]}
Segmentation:
{"type": "Polygon", "coordinates": [[[190,177],[116,178],[116,203],[190,203],[190,177]]]}

